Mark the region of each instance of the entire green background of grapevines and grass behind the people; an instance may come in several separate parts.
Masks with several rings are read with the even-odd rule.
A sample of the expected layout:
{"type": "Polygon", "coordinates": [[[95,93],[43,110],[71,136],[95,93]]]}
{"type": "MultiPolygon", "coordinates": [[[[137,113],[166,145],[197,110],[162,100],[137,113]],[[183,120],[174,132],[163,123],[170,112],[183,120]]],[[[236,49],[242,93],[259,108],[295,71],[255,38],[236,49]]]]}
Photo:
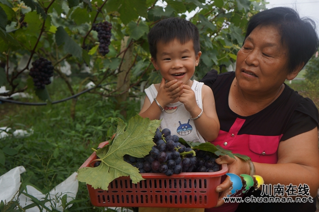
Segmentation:
{"type": "MultiPolygon", "coordinates": [[[[29,98],[16,100],[46,102],[1,102],[0,126],[11,130],[0,142],[0,175],[24,166],[22,186],[46,193],[77,171],[92,147],[112,137],[117,117],[127,124],[140,111],[144,88],[160,81],[147,42],[160,19],[187,17],[198,27],[202,56],[194,79],[200,79],[212,68],[224,72],[234,64],[247,21],[262,9],[264,0],[0,0],[0,87],[6,88],[0,96],[24,92],[29,98]],[[102,56],[92,24],[105,20],[113,28],[110,52],[102,56]],[[54,65],[54,76],[36,90],[28,72],[41,56],[54,65]],[[88,83],[89,92],[52,104],[85,91],[88,83]],[[33,134],[14,137],[16,129],[33,134]]],[[[299,88],[316,96],[317,87],[299,88]]],[[[76,200],[65,211],[93,210],[84,183],[76,200]]]]}

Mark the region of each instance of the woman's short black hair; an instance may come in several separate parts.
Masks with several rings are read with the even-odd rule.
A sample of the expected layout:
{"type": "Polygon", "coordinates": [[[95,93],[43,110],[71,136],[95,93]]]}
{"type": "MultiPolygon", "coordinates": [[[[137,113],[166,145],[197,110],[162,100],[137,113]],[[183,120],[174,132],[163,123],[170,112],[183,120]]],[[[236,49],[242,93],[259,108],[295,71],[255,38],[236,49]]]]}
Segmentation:
{"type": "Polygon", "coordinates": [[[269,25],[278,28],[281,42],[288,48],[289,73],[303,62],[306,65],[317,51],[316,23],[307,17],[300,18],[298,12],[289,7],[273,7],[253,15],[248,21],[245,39],[257,26],[269,25]]]}

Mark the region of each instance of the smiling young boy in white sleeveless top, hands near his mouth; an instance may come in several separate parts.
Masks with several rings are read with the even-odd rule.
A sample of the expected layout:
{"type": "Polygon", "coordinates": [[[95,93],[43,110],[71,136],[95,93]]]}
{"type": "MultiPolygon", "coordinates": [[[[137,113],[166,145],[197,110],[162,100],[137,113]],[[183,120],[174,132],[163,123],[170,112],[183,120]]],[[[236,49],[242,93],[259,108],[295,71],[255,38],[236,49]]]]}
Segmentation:
{"type": "Polygon", "coordinates": [[[191,80],[201,55],[197,27],[177,17],[163,19],[150,30],[148,40],[162,80],[145,90],[140,115],[161,119],[161,129],[185,141],[213,141],[219,132],[213,92],[191,80]]]}

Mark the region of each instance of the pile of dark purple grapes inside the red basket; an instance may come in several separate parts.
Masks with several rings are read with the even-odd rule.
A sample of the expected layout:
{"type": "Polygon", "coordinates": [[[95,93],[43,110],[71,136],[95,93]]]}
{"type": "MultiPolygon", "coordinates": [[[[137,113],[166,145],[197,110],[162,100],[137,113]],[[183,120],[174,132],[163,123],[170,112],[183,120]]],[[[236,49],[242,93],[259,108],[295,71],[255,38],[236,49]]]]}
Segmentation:
{"type": "Polygon", "coordinates": [[[216,155],[181,144],[179,137],[171,135],[167,128],[162,131],[158,129],[153,141],[156,145],[149,155],[144,158],[125,155],[124,160],[137,167],[140,173],[164,173],[171,176],[181,172],[219,171],[219,165],[215,163],[216,155]]]}

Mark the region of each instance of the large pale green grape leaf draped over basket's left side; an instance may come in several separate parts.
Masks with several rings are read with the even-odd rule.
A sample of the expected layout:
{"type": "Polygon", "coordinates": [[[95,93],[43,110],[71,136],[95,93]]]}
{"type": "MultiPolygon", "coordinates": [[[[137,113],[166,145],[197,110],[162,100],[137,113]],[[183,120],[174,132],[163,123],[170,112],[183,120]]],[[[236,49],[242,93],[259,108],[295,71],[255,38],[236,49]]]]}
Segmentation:
{"type": "Polygon", "coordinates": [[[98,149],[102,159],[98,167],[85,167],[78,170],[78,181],[91,185],[94,189],[108,190],[109,184],[116,178],[130,176],[133,183],[142,180],[138,168],[124,161],[124,155],[143,158],[154,146],[153,138],[160,120],[151,121],[139,115],[129,120],[127,129],[124,121],[118,119],[116,136],[111,144],[98,149]]]}

